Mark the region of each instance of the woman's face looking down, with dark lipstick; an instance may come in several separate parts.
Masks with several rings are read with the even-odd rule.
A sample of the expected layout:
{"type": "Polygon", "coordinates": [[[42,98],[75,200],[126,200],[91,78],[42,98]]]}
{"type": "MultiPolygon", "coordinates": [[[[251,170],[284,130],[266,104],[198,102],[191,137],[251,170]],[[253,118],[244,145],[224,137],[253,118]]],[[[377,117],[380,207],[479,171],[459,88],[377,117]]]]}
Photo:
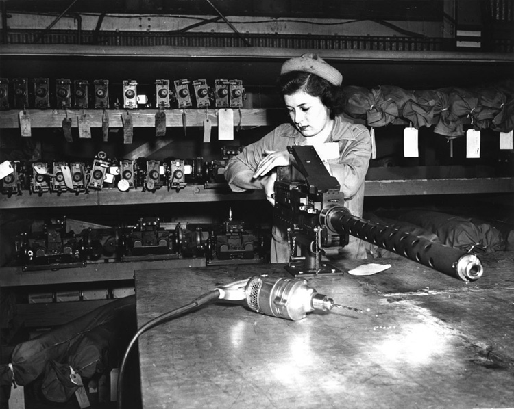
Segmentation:
{"type": "Polygon", "coordinates": [[[330,126],[330,111],[321,103],[319,96],[312,96],[298,90],[284,95],[284,102],[291,120],[305,137],[315,136],[330,126]]]}

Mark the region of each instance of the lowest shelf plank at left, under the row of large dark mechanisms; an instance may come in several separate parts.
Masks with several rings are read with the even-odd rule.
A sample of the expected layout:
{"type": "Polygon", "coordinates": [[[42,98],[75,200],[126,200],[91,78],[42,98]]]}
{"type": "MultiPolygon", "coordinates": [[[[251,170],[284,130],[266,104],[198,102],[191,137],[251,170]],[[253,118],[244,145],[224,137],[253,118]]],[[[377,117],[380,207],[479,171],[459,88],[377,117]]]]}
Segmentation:
{"type": "Polygon", "coordinates": [[[202,267],[205,265],[207,265],[206,259],[199,257],[197,259],[88,263],[86,267],[33,272],[23,272],[21,267],[1,267],[0,287],[134,280],[134,270],[202,267]]]}

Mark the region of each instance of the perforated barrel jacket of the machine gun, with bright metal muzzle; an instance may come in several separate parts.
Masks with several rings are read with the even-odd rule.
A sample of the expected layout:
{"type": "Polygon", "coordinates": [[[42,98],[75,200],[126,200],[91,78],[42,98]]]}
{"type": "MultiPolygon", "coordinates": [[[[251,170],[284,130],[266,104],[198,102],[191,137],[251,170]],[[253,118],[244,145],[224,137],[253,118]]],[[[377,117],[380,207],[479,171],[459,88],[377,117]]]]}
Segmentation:
{"type": "Polygon", "coordinates": [[[334,233],[349,233],[465,282],[478,280],[484,271],[480,259],[474,254],[424,239],[387,224],[361,219],[339,205],[323,209],[320,222],[321,226],[326,226],[334,233]]]}

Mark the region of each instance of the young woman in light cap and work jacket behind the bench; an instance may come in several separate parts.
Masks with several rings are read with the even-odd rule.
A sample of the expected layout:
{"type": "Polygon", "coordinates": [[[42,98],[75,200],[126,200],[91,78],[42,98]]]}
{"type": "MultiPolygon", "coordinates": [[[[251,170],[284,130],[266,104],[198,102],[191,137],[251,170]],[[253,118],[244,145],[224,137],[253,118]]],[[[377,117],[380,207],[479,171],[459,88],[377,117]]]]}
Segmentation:
{"type": "MultiPolygon", "coordinates": [[[[275,168],[293,161],[287,146],[313,145],[341,184],[345,207],[352,215],[362,216],[371,137],[366,127],[340,116],[342,81],[341,73],[317,55],[304,54],[284,62],[278,84],[293,123],[280,125],[229,161],[225,179],[230,188],[234,192],[264,189],[267,200],[274,204],[275,168]]],[[[366,257],[364,243],[352,236],[339,253],[343,258],[366,257]]],[[[288,261],[286,232],[274,226],[271,263],[288,261]]]]}

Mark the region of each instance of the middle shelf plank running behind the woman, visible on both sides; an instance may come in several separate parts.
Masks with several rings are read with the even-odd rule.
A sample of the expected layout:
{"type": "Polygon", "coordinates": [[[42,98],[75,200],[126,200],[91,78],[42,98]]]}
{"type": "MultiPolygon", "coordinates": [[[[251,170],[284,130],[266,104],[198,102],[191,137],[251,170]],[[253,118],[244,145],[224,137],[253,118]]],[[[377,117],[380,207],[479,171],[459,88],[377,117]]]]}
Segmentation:
{"type": "MultiPolygon", "coordinates": [[[[408,196],[433,194],[484,194],[513,193],[514,178],[472,178],[472,179],[393,179],[365,181],[365,196],[408,196]]],[[[36,207],[84,207],[108,205],[155,205],[158,203],[227,202],[240,200],[265,200],[260,190],[234,193],[227,189],[204,189],[201,185],[189,185],[180,192],[166,188],[156,192],[132,190],[119,192],[105,188],[99,192],[79,194],[23,194],[0,196],[0,209],[21,209],[36,207]]]]}

